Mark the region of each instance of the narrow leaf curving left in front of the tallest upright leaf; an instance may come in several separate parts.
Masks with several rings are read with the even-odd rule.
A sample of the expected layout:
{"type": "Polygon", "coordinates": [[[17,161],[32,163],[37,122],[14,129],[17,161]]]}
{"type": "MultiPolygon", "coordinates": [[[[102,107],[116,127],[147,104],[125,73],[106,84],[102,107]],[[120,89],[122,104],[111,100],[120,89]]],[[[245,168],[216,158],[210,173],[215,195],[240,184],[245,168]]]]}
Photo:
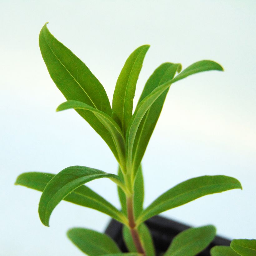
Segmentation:
{"type": "Polygon", "coordinates": [[[105,126],[108,130],[109,134],[112,136],[113,141],[115,143],[116,150],[118,152],[117,161],[121,165],[125,165],[125,139],[122,134],[120,127],[116,124],[116,122],[107,114],[102,111],[99,111],[86,103],[81,101],[66,101],[57,107],[56,111],[63,111],[67,109],[83,109],[86,111],[91,111],[98,118],[98,120],[105,126]]]}

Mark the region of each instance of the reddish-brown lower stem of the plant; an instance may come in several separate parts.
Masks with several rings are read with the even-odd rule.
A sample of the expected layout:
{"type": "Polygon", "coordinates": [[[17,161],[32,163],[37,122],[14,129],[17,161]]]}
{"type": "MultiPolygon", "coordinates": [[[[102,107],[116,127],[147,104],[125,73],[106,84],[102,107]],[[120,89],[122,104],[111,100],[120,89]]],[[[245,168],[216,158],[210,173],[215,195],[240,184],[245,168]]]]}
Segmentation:
{"type": "Polygon", "coordinates": [[[137,249],[137,252],[142,254],[143,256],[146,255],[145,250],[141,244],[140,236],[136,227],[136,223],[134,220],[134,214],[133,214],[133,194],[130,197],[126,197],[126,204],[127,204],[127,216],[129,220],[129,228],[131,232],[131,236],[133,239],[133,242],[135,244],[135,247],[137,249]]]}

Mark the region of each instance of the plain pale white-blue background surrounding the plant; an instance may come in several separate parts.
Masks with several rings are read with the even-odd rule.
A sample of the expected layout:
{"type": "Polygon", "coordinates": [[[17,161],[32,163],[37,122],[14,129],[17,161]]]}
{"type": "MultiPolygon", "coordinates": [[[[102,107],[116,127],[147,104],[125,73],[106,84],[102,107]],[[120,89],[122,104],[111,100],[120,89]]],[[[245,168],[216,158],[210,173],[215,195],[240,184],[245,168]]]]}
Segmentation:
{"type": "MultiPolygon", "coordinates": [[[[66,238],[79,226],[103,231],[109,217],[67,202],[50,228],[39,220],[40,193],[14,186],[25,171],[57,173],[85,165],[116,173],[105,142],[65,101],[38,47],[45,22],[83,60],[112,102],[129,54],[150,44],[137,83],[161,63],[183,67],[212,59],[225,72],[175,83],[143,159],[145,206],[170,187],[199,175],[230,175],[243,190],[209,195],[163,215],[186,224],[214,224],[228,238],[256,238],[255,1],[0,1],[1,208],[0,255],[83,255],[66,238]]],[[[106,179],[89,186],[116,207],[106,179]]]]}

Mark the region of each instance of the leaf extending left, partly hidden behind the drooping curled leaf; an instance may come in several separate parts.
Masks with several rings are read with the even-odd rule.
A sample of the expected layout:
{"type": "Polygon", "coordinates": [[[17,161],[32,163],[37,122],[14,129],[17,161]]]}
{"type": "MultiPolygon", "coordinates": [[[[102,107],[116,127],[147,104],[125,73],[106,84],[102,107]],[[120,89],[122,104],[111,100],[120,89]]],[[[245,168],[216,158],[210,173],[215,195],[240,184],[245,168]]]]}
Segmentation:
{"type": "MultiPolygon", "coordinates": [[[[22,185],[34,190],[43,191],[45,186],[54,176],[54,174],[42,172],[22,173],[17,177],[15,185],[22,185]]],[[[84,185],[75,189],[63,200],[98,210],[108,214],[117,221],[123,222],[124,216],[115,206],[84,185]]]]}

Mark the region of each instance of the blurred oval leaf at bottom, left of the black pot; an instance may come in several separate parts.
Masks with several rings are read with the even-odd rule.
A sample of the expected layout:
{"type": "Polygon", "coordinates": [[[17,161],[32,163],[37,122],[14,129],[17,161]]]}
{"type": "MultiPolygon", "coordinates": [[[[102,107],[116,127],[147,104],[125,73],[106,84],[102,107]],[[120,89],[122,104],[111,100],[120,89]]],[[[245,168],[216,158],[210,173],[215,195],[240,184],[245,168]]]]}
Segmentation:
{"type": "Polygon", "coordinates": [[[67,236],[82,252],[91,256],[121,253],[116,243],[108,235],[91,229],[69,229],[67,236]]]}

